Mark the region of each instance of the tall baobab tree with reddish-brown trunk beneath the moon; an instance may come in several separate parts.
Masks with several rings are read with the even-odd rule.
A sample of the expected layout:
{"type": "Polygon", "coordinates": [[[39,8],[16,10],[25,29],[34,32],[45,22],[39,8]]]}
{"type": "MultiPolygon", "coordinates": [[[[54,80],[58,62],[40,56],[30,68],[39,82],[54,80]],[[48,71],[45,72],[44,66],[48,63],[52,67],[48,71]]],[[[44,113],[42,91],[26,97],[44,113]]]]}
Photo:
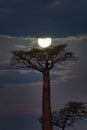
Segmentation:
{"type": "Polygon", "coordinates": [[[50,70],[56,63],[65,63],[74,60],[75,56],[67,49],[67,44],[50,46],[47,48],[32,48],[28,51],[12,51],[11,63],[25,68],[35,69],[43,74],[42,98],[42,129],[52,130],[51,103],[50,103],[50,70]]]}

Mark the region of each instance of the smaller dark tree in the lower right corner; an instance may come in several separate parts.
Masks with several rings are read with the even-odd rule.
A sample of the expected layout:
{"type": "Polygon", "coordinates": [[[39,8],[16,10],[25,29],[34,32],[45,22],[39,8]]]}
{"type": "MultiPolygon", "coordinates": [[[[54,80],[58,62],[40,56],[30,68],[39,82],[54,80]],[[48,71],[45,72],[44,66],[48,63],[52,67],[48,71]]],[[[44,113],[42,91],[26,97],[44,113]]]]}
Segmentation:
{"type": "Polygon", "coordinates": [[[69,102],[64,108],[52,113],[52,122],[54,126],[65,130],[66,127],[74,126],[85,117],[87,117],[87,105],[82,102],[69,102]]]}

